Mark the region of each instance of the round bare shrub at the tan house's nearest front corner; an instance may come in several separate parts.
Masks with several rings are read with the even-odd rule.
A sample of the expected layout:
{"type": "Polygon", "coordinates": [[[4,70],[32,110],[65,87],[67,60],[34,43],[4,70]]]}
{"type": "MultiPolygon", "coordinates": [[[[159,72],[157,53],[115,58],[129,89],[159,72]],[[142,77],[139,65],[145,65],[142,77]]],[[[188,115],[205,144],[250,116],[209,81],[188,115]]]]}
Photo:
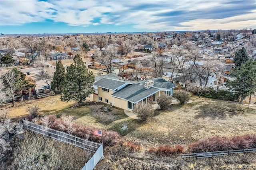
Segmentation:
{"type": "Polygon", "coordinates": [[[154,110],[152,104],[143,104],[141,102],[137,103],[133,108],[133,113],[137,115],[138,119],[145,122],[149,117],[154,116],[154,110]]]}

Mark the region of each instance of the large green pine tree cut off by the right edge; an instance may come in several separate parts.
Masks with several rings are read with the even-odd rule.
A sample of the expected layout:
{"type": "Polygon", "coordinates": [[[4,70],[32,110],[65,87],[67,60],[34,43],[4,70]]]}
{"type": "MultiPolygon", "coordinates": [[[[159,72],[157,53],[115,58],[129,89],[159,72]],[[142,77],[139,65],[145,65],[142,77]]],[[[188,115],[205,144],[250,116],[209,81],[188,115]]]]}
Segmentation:
{"type": "Polygon", "coordinates": [[[254,94],[256,91],[256,61],[247,60],[239,68],[234,69],[231,75],[236,79],[228,81],[226,86],[241,97],[240,102],[243,102],[248,95],[254,94]]]}

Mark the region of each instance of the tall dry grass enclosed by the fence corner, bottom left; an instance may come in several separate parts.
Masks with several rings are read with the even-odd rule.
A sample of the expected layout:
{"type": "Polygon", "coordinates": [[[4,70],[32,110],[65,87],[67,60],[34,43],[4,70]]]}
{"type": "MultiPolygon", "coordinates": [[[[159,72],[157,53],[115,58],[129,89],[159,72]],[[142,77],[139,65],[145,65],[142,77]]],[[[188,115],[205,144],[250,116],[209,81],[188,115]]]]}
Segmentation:
{"type": "Polygon", "coordinates": [[[58,142],[31,131],[11,140],[7,167],[4,169],[81,170],[92,152],[58,142]]]}

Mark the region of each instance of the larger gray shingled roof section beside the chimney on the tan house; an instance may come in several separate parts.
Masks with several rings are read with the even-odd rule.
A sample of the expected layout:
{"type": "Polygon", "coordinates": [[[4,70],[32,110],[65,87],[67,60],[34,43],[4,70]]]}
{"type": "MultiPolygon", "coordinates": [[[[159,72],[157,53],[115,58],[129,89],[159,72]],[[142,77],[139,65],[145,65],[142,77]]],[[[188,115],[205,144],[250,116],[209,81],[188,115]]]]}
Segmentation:
{"type": "Polygon", "coordinates": [[[141,99],[147,97],[148,95],[156,93],[157,91],[159,91],[159,89],[156,89],[154,87],[145,89],[144,85],[132,84],[126,86],[124,89],[121,89],[120,91],[117,91],[112,96],[126,99],[128,101],[136,103],[137,101],[140,101],[141,99]]]}

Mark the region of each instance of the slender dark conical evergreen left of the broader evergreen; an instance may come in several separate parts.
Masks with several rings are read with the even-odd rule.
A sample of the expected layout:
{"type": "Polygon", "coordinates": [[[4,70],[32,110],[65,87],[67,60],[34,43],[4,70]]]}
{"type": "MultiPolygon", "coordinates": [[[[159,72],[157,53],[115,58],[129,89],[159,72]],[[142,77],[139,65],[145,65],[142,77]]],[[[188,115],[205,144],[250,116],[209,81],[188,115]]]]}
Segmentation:
{"type": "Polygon", "coordinates": [[[62,65],[61,61],[58,60],[58,63],[56,65],[56,71],[54,72],[54,75],[53,75],[51,87],[55,93],[62,93],[65,85],[66,85],[65,68],[62,65]]]}

